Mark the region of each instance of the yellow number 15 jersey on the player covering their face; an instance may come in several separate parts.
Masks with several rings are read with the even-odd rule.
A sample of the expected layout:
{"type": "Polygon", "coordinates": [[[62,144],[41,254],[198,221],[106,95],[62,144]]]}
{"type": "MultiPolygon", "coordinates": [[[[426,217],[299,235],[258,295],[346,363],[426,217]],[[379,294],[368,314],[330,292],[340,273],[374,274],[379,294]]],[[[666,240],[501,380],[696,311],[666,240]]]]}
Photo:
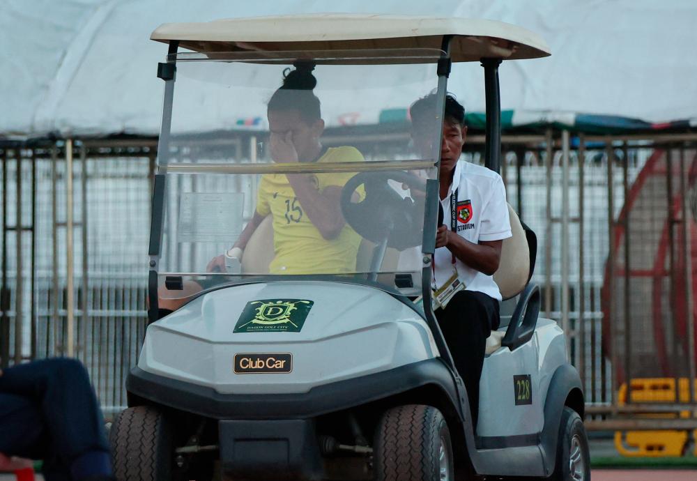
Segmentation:
{"type": "MultiPolygon", "coordinates": [[[[358,149],[348,146],[328,148],[317,162],[362,162],[358,149]]],[[[355,172],[328,172],[312,175],[319,192],[330,185],[343,187],[355,172]]],[[[362,189],[358,193],[362,197],[362,189]]],[[[275,257],[269,264],[272,274],[340,274],[355,272],[355,259],[361,237],[344,224],[339,236],[322,237],[303,211],[285,174],[261,176],[256,196],[256,213],[273,216],[275,257]]]]}

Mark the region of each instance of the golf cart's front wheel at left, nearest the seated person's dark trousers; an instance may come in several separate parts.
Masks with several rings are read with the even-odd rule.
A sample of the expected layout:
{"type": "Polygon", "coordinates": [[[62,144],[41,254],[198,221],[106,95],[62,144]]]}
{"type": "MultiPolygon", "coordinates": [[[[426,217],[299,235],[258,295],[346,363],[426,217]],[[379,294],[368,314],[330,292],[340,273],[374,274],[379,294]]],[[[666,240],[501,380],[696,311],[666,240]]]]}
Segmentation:
{"type": "Polygon", "coordinates": [[[159,409],[136,406],[120,413],[109,432],[116,480],[170,480],[171,439],[171,425],[159,409]]]}

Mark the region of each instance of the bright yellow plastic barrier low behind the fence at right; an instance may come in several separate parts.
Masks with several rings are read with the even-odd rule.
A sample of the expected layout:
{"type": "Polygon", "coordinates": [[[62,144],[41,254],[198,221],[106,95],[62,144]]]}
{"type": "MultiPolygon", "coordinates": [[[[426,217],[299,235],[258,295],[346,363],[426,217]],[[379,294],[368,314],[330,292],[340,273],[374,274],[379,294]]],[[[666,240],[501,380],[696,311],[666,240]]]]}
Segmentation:
{"type": "MultiPolygon", "coordinates": [[[[695,380],[697,381],[697,380],[695,380]]],[[[689,381],[680,378],[678,384],[679,402],[689,402],[689,381]]],[[[697,390],[697,382],[696,382],[697,390]]],[[[618,396],[620,406],[627,401],[627,384],[620,386],[618,396]]],[[[631,402],[639,404],[675,402],[674,378],[645,378],[631,380],[631,402]]],[[[642,418],[675,418],[677,413],[639,414],[642,418]]],[[[681,411],[680,418],[689,418],[689,411],[681,411]]],[[[666,431],[617,431],[615,449],[626,457],[680,457],[684,454],[689,432],[685,430],[666,431]]],[[[697,438],[697,430],[694,432],[697,438]]],[[[695,448],[697,455],[697,446],[695,448]]]]}

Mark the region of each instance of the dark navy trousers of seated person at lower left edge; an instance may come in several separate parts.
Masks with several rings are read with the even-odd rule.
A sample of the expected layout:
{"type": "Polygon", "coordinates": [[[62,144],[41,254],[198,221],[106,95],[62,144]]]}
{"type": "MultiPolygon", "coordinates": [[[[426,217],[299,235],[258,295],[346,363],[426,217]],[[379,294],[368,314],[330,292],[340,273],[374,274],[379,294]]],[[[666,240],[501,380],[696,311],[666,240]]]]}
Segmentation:
{"type": "Polygon", "coordinates": [[[47,481],[70,480],[86,452],[109,452],[104,420],[82,364],[52,358],[0,376],[0,452],[44,460],[47,481]]]}

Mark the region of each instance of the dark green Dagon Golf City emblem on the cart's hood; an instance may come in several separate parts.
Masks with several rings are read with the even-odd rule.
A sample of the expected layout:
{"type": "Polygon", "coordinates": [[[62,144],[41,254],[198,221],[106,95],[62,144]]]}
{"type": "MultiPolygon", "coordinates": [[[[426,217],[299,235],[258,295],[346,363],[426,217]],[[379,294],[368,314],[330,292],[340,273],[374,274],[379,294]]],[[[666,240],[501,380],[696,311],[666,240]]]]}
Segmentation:
{"type": "Polygon", "coordinates": [[[264,299],[247,303],[234,333],[299,333],[314,303],[303,299],[264,299]]]}

